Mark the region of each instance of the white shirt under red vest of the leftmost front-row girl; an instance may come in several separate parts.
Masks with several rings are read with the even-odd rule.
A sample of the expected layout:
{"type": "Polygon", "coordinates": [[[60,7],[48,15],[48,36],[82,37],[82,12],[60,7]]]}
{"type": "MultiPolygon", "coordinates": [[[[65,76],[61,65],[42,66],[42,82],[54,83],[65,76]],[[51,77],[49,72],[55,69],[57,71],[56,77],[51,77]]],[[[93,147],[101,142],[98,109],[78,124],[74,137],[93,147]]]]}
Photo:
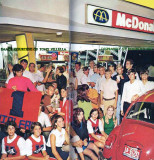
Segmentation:
{"type": "MultiPolygon", "coordinates": [[[[14,137],[12,139],[9,139],[9,136],[7,136],[7,143],[12,143],[15,139],[17,138],[17,134],[14,135],[14,137]]],[[[24,138],[20,137],[18,142],[17,142],[17,146],[20,150],[20,155],[24,156],[26,155],[26,148],[25,148],[25,140],[24,138]]],[[[2,154],[7,154],[6,150],[5,150],[5,142],[4,142],[4,138],[2,139],[2,154]]]]}

